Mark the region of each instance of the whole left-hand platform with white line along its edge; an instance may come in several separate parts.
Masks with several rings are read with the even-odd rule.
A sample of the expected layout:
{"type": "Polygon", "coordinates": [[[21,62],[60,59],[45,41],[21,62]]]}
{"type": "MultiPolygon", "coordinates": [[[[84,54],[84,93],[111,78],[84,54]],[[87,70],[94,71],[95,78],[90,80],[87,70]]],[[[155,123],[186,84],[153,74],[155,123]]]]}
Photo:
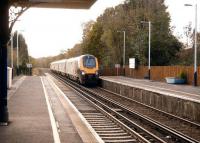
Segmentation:
{"type": "Polygon", "coordinates": [[[15,79],[8,91],[9,124],[0,126],[0,142],[98,142],[76,112],[65,110],[54,86],[46,76],[15,79]]]}

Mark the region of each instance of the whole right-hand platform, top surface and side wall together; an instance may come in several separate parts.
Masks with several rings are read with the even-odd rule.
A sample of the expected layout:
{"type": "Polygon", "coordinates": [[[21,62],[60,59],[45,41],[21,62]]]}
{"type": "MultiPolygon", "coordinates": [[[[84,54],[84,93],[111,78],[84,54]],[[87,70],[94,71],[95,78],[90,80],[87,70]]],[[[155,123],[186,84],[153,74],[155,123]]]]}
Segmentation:
{"type": "Polygon", "coordinates": [[[101,76],[101,86],[157,109],[200,122],[200,87],[124,76],[101,76]]]}

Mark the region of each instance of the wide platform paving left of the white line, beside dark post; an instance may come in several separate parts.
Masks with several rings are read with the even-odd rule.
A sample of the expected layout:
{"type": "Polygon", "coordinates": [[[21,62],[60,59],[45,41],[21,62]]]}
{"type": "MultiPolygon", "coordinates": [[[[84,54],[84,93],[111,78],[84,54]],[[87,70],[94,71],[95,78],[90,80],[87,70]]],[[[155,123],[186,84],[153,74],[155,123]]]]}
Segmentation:
{"type": "Polygon", "coordinates": [[[53,142],[51,124],[43,94],[40,78],[26,77],[8,100],[9,125],[0,127],[0,142],[53,142]]]}

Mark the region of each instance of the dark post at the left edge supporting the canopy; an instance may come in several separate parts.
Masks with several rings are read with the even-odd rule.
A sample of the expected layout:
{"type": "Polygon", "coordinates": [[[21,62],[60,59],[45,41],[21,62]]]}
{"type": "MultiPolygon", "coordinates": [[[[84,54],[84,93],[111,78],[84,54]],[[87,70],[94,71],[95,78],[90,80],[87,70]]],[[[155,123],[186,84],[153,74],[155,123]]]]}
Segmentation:
{"type": "Polygon", "coordinates": [[[9,1],[0,0],[0,125],[8,124],[7,43],[9,41],[9,1]]]}

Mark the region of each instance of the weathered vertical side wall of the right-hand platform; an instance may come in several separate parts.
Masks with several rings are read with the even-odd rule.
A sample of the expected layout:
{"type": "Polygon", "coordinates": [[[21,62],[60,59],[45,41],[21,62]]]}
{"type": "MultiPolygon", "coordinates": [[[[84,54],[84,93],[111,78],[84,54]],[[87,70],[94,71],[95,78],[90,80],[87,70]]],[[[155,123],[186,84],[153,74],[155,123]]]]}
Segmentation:
{"type": "Polygon", "coordinates": [[[101,80],[101,86],[112,92],[129,97],[157,109],[200,122],[200,102],[193,102],[173,96],[130,87],[110,81],[101,80]]]}

